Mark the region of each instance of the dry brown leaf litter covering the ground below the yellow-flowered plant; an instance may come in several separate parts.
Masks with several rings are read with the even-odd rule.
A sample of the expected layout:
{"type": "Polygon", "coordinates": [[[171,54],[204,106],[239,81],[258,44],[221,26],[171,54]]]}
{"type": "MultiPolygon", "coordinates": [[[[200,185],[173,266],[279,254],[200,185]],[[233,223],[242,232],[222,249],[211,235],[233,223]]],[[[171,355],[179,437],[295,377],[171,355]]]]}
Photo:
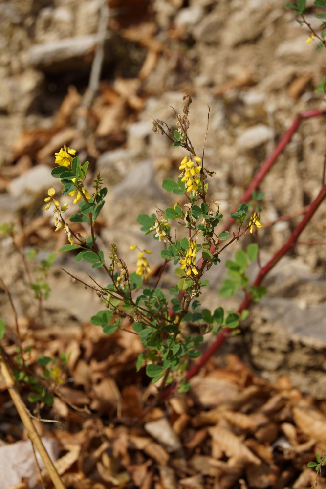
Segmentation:
{"type": "MultiPolygon", "coordinates": [[[[326,451],[325,401],[304,398],[287,378],[272,385],[230,355],[223,367],[211,359],[187,394],[174,393],[146,410],[157,389],[146,385],[144,371],[135,371],[142,347],[128,329],[126,324],[108,336],[85,324],[29,330],[24,336],[22,348],[31,348],[36,376],[43,372],[39,356],[69,352],[62,383],[53,386],[53,407],[42,409],[43,418],[59,423],[37,422],[43,436],[58,445],[56,467],[67,488],[299,489],[314,484],[315,472],[307,463],[326,451]]],[[[14,352],[10,344],[5,348],[14,352]]],[[[22,389],[22,397],[34,409],[28,392],[22,389]]],[[[8,401],[2,383],[1,438],[15,442],[24,433],[8,401]]],[[[318,487],[326,487],[326,480],[318,479],[318,487]]],[[[29,486],[26,481],[13,487],[29,486]]]]}

